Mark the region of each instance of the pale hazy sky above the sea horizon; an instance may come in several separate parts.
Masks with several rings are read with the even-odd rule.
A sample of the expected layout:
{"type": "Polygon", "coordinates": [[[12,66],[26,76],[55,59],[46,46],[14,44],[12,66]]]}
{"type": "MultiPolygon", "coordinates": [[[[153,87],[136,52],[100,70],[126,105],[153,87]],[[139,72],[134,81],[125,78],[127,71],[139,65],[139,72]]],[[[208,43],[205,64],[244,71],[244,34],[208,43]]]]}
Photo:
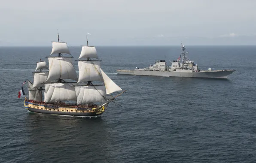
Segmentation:
{"type": "Polygon", "coordinates": [[[256,0],[0,0],[0,46],[256,45],[256,0]],[[58,30],[57,30],[58,29],[58,30]]]}

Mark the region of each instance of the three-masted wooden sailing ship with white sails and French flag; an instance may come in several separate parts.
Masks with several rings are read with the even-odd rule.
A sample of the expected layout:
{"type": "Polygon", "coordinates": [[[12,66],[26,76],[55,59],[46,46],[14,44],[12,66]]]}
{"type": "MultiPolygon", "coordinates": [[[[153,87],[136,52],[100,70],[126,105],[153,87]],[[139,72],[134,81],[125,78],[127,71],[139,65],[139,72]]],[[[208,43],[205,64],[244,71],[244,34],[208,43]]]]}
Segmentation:
{"type": "MultiPolygon", "coordinates": [[[[59,34],[58,42],[52,42],[52,52],[47,58],[49,71],[46,61],[40,60],[36,72],[33,72],[34,83],[26,80],[29,94],[28,99],[25,97],[24,106],[30,112],[100,116],[107,110],[108,104],[124,92],[116,97],[112,96],[113,92],[122,89],[101,69],[96,47],[88,46],[88,39],[87,45],[82,46],[79,60],[76,60],[79,76],[76,74],[67,42],[60,42],[59,34]]],[[[21,94],[24,94],[23,87],[19,98],[21,94]]]]}

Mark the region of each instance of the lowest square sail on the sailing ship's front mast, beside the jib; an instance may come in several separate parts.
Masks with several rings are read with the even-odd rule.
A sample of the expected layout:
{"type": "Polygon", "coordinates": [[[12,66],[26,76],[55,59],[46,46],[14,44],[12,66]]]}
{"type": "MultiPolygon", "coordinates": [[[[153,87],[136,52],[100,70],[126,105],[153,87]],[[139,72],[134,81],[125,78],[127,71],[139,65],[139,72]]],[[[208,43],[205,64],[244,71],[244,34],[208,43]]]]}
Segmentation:
{"type": "Polygon", "coordinates": [[[104,85],[75,87],[77,105],[83,103],[105,103],[106,89],[104,85]],[[96,88],[96,89],[95,89],[96,88]],[[104,96],[104,97],[103,97],[104,96]]]}

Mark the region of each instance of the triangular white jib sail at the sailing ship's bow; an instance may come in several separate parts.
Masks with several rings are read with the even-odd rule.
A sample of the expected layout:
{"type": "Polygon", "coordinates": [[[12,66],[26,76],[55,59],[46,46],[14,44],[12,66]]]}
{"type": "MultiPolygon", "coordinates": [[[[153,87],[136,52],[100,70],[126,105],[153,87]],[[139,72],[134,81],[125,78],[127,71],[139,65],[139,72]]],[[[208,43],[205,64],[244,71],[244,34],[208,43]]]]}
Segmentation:
{"type": "Polygon", "coordinates": [[[109,78],[102,69],[101,69],[101,75],[105,83],[107,94],[111,94],[116,91],[122,91],[122,89],[118,85],[116,85],[116,83],[113,82],[113,80],[111,80],[111,78],[109,78]]]}

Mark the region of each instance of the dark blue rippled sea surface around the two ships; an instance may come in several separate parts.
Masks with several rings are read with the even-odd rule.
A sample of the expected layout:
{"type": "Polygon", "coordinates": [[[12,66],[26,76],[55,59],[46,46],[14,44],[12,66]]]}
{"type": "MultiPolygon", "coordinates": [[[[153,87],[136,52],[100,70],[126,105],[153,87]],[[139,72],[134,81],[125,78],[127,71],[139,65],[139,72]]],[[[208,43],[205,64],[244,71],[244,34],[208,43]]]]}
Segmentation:
{"type": "MultiPolygon", "coordinates": [[[[18,99],[51,47],[0,47],[0,162],[256,163],[256,46],[186,48],[200,69],[236,71],[227,80],[117,75],[170,65],[180,46],[97,47],[104,72],[127,91],[122,107],[76,118],[31,113],[18,99]]],[[[74,60],[80,50],[70,47],[74,60]]]]}

